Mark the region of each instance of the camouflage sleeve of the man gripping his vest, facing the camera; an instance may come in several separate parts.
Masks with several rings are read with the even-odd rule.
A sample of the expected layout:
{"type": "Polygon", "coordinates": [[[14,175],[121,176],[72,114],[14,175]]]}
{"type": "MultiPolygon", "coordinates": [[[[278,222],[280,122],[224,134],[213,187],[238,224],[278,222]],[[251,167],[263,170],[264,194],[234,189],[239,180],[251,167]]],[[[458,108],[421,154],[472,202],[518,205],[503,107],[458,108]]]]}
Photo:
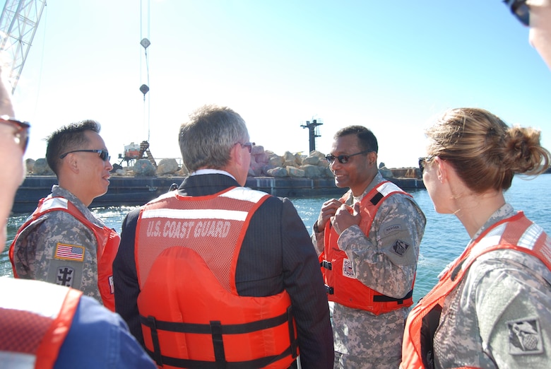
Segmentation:
{"type": "Polygon", "coordinates": [[[366,286],[393,298],[411,290],[425,216],[403,195],[386,199],[375,215],[369,235],[353,225],[338,238],[352,262],[355,276],[366,286]]]}

